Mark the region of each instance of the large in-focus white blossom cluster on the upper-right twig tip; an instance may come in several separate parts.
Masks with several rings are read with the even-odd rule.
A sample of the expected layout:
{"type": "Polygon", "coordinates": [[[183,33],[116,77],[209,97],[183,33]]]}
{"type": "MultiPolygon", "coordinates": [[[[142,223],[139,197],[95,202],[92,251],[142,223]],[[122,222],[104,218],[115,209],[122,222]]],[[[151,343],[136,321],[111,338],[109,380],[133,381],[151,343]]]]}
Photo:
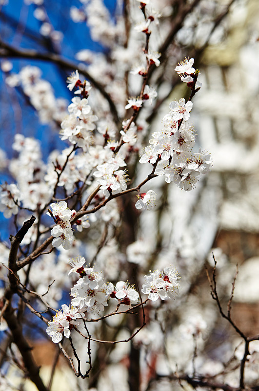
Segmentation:
{"type": "MultiPolygon", "coordinates": [[[[185,59],[176,67],[176,71],[192,78],[194,91],[197,72],[192,65],[193,59],[185,59]]],[[[185,191],[190,191],[198,181],[198,175],[208,173],[212,165],[207,152],[192,152],[196,134],[193,126],[187,122],[192,107],[192,102],[185,102],[184,98],[171,102],[170,112],[162,120],[164,128],[152,133],[150,145],[145,147],[139,160],[140,163],[153,165],[158,161],[155,174],[164,176],[167,183],[175,182],[185,191]]]]}

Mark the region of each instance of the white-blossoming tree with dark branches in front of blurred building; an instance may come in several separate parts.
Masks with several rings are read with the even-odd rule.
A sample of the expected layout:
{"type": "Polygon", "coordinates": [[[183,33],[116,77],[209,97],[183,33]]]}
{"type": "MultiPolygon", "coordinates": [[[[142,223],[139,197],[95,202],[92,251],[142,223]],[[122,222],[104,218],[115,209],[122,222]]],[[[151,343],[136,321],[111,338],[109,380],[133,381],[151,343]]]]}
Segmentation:
{"type": "MultiPolygon", "coordinates": [[[[7,87],[20,91],[41,123],[59,130],[63,149],[42,158],[39,140],[18,132],[12,143],[16,155],[8,165],[1,152],[8,181],[1,185],[0,211],[12,220],[13,233],[15,229],[10,245],[1,243],[1,364],[8,363],[1,381],[13,390],[8,373],[15,366],[21,385],[29,377],[38,390],[50,390],[62,354],[66,370],[81,379],[77,390],[82,379],[89,389],[99,390],[105,370],[112,373],[113,360],[120,361],[117,347],[127,343],[123,354],[128,357],[130,391],[158,390],[163,381],[179,388],[244,389],[248,345],[256,338],[247,339],[233,324],[230,299],[225,317],[246,343],[238,364],[239,385],[225,382],[231,363],[213,374],[198,371],[207,324],[199,314],[180,318],[180,265],[170,260],[159,239],[153,245],[143,240],[141,222],[162,203],[155,181],[190,192],[210,171],[211,156],[197,147],[191,122],[192,99],[202,93],[194,55],[198,61],[231,3],[222,7],[215,1],[211,12],[208,2],[197,0],[118,1],[116,18],[110,18],[102,1],[81,3],[71,7],[70,17],[88,23],[92,39],[106,46],[105,54],[81,50],[76,54],[80,63],[62,57],[55,49],[60,34],[43,1],[34,2],[34,15],[52,52],[0,41],[2,57],[49,61],[72,71],[67,87],[74,95],[65,104],[41,78],[39,67],[26,65],[12,73],[11,63],[2,62],[7,87]],[[201,41],[199,23],[193,21],[197,15],[199,23],[209,17],[210,29],[201,41]],[[189,42],[183,42],[190,28],[189,42]],[[184,97],[167,102],[179,82],[185,86],[184,97]],[[159,117],[163,103],[167,112],[159,117]],[[156,115],[159,125],[150,127],[156,115]],[[195,344],[185,363],[179,353],[179,368],[172,365],[169,344],[174,337],[169,325],[177,324],[177,317],[182,335],[195,344]],[[48,384],[33,357],[26,323],[59,347],[48,384]],[[159,368],[159,361],[166,370],[159,368]]],[[[181,270],[188,293],[192,283],[181,270]]],[[[215,276],[214,268],[212,296],[224,317],[215,276]]]]}

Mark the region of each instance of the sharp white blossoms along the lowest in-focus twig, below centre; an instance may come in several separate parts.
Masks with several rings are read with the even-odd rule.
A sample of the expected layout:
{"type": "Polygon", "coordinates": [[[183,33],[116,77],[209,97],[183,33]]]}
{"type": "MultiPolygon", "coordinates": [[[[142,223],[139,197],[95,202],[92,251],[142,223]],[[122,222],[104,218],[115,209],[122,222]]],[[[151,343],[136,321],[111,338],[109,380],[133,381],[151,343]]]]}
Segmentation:
{"type": "MultiPolygon", "coordinates": [[[[75,320],[84,318],[85,313],[95,315],[103,312],[109,299],[117,299],[118,305],[139,304],[139,293],[128,281],[119,281],[115,285],[112,282],[105,283],[101,273],[93,267],[84,267],[85,259],[80,256],[68,263],[72,267],[68,274],[77,273],[80,278],[70,291],[72,306],[63,304],[62,311],[58,311],[52,322],[49,322],[47,333],[53,342],[60,342],[63,334],[69,338],[73,326],[79,325],[75,320]]],[[[149,295],[148,299],[155,301],[176,296],[179,287],[179,274],[176,269],[165,267],[163,272],[155,270],[150,272],[150,276],[145,276],[145,279],[141,291],[149,295]]]]}

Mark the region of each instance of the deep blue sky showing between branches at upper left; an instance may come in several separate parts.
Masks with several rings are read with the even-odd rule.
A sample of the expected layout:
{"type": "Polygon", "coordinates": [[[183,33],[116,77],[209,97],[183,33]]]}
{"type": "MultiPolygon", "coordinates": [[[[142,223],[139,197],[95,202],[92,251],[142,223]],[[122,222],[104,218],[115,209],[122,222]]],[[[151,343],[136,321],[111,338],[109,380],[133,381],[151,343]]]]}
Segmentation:
{"type": "MultiPolygon", "coordinates": [[[[116,0],[105,0],[104,3],[113,18],[116,0]]],[[[90,31],[85,22],[74,23],[69,18],[70,7],[80,8],[82,6],[80,1],[45,0],[44,6],[54,29],[63,34],[63,40],[60,44],[62,57],[75,61],[74,56],[81,49],[90,49],[96,52],[105,50],[99,43],[91,40],[90,31]]],[[[0,13],[1,40],[18,48],[37,49],[38,51],[51,50],[49,47],[46,48],[49,44],[48,40],[40,35],[41,22],[33,15],[35,8],[35,4],[28,5],[22,0],[9,0],[7,5],[2,6],[0,13]]],[[[51,83],[57,98],[62,97],[70,101],[73,97],[73,94],[66,87],[66,77],[70,73],[69,71],[62,72],[57,65],[39,60],[11,59],[11,61],[13,63],[12,72],[15,73],[25,65],[39,66],[42,78],[51,83]]],[[[0,70],[0,148],[7,152],[9,158],[12,157],[12,140],[15,133],[21,131],[25,136],[40,140],[43,157],[46,160],[49,152],[64,148],[58,131],[53,131],[49,125],[41,125],[37,113],[25,102],[19,91],[6,87],[4,77],[5,75],[0,70]],[[17,117],[17,109],[20,111],[19,118],[17,117]]],[[[8,176],[1,175],[0,184],[5,180],[8,183],[12,181],[8,176]]],[[[15,234],[13,225],[0,213],[0,239],[8,239],[9,225],[11,233],[15,234]]]]}

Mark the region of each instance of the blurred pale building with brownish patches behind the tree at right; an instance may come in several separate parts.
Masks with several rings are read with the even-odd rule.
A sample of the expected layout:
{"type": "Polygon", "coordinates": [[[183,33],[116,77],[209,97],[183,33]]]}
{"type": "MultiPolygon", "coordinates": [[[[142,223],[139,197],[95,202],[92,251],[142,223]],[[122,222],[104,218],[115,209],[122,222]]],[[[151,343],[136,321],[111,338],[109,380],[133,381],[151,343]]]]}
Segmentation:
{"type": "Polygon", "coordinates": [[[233,318],[253,335],[259,326],[259,2],[236,2],[227,28],[224,42],[202,58],[195,110],[200,145],[213,157],[208,182],[219,200],[213,247],[239,264],[233,318]]]}

